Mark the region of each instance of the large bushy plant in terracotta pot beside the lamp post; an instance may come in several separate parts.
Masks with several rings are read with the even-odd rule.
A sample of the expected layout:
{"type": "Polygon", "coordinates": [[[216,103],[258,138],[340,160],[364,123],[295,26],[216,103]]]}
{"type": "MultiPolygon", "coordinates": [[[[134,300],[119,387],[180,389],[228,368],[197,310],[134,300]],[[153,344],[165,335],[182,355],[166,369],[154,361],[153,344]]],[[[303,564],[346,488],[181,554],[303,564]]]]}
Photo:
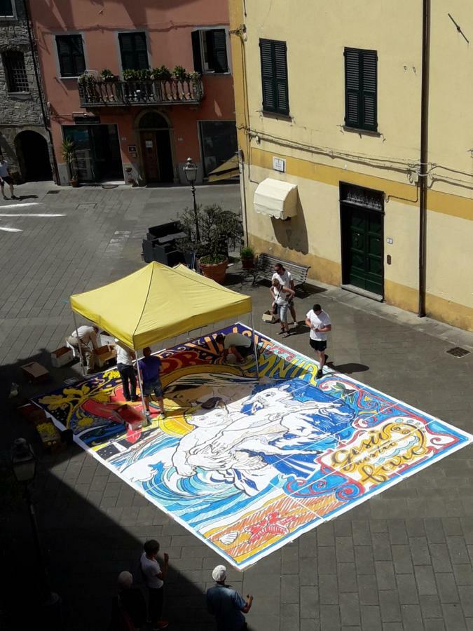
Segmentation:
{"type": "Polygon", "coordinates": [[[236,247],[243,233],[239,215],[217,204],[204,208],[198,205],[196,212],[186,208],[179,222],[186,233],[186,237],[179,240],[181,250],[196,255],[203,276],[224,283],[228,245],[236,247]],[[197,239],[196,215],[200,240],[197,239]]]}

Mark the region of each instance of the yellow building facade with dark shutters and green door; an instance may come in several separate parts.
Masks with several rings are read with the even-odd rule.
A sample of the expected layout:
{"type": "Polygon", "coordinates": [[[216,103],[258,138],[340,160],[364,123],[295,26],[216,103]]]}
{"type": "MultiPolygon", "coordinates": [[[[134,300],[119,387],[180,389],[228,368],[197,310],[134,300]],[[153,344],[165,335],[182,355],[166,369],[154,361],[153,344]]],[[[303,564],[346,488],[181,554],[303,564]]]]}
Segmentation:
{"type": "Polygon", "coordinates": [[[469,0],[229,2],[249,244],[473,331],[469,0]]]}

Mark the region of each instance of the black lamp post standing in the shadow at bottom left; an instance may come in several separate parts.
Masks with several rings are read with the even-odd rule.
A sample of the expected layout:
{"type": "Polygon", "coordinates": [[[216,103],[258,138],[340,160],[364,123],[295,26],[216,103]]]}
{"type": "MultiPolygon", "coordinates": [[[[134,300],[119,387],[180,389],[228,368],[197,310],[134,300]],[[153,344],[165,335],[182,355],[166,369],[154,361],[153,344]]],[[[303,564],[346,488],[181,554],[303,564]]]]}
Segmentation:
{"type": "Polygon", "coordinates": [[[36,522],[34,504],[29,491],[29,485],[33,482],[34,475],[36,473],[36,456],[34,455],[31,445],[29,445],[29,442],[27,442],[25,438],[17,438],[13,441],[11,463],[13,474],[18,482],[22,484],[23,490],[25,491],[25,499],[28,504],[29,519],[32,524],[34,545],[36,548],[37,569],[41,587],[41,604],[43,605],[47,615],[49,614],[48,620],[51,622],[52,620],[50,617],[52,618],[55,616],[57,617],[57,621],[60,615],[58,609],[61,601],[60,597],[50,588],[48,572],[46,571],[41,541],[39,538],[38,522],[36,522]]]}

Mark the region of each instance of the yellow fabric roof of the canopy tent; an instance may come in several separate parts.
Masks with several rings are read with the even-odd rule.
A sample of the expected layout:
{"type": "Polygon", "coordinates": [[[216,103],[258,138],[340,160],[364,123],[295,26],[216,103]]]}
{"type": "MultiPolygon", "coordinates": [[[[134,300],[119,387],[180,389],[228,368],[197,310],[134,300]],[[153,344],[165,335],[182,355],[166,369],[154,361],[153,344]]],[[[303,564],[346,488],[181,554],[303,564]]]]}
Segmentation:
{"type": "Polygon", "coordinates": [[[251,313],[252,299],[184,265],[149,263],[114,283],[71,296],[71,308],[137,350],[218,320],[251,313]]]}

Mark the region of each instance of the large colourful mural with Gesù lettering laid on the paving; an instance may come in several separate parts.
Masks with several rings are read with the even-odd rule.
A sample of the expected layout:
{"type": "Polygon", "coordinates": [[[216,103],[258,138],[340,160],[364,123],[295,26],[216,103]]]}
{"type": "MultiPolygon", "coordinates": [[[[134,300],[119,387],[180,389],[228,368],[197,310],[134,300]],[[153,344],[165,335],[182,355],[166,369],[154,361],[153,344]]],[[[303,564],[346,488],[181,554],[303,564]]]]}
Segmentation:
{"type": "Polygon", "coordinates": [[[219,332],[159,353],[166,414],[152,403],[145,428],[125,429],[115,369],[34,402],[238,569],[473,440],[349,376],[315,379],[262,334],[257,381],[254,357],[224,362],[219,332]]]}

